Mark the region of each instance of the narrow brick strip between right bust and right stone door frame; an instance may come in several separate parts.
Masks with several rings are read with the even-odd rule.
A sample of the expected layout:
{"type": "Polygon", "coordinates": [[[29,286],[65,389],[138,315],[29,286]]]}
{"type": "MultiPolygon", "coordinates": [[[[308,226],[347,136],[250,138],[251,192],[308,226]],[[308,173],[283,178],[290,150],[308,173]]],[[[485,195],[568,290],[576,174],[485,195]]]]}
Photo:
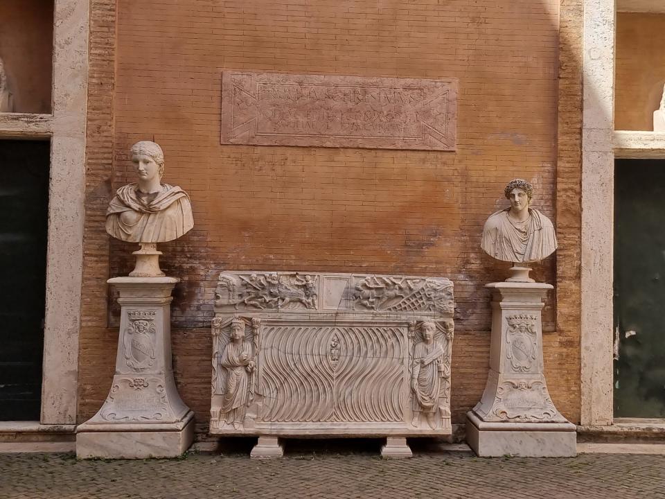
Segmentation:
{"type": "Polygon", "coordinates": [[[580,421],[583,0],[562,0],[556,166],[556,333],[544,338],[545,376],[554,403],[580,421]]]}

